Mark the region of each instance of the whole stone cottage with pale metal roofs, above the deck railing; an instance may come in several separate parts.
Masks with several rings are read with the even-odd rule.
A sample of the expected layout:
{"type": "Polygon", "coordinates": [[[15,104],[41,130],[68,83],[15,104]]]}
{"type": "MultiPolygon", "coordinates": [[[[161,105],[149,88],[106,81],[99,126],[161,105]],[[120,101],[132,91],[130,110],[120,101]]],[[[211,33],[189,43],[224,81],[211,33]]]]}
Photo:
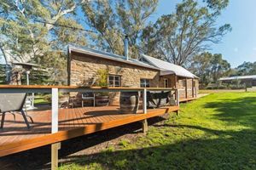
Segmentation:
{"type": "Polygon", "coordinates": [[[96,86],[99,71],[107,72],[108,87],[178,88],[180,98],[198,94],[198,77],[179,65],[145,54],[131,59],[91,48],[68,47],[68,85],[96,86]]]}

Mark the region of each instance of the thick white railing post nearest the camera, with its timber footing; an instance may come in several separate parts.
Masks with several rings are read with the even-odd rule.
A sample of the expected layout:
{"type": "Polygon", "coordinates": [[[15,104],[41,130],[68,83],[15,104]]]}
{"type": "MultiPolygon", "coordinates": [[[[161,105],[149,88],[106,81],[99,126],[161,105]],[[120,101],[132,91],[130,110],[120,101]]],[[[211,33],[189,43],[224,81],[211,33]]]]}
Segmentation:
{"type": "MultiPolygon", "coordinates": [[[[51,89],[51,133],[58,132],[58,88],[51,89]]],[[[60,148],[59,143],[51,144],[51,169],[58,168],[58,150],[60,148]]]]}

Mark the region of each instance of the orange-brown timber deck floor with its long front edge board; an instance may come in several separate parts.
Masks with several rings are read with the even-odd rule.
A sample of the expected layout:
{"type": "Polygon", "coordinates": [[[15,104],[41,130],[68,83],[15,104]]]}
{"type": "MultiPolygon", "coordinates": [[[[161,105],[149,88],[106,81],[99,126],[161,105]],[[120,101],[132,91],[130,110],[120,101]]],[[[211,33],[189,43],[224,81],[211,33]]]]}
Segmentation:
{"type": "Polygon", "coordinates": [[[28,112],[34,121],[30,130],[27,130],[19,114],[16,114],[16,120],[14,116],[7,114],[4,127],[0,130],[0,156],[138,122],[178,109],[178,106],[148,109],[147,114],[143,114],[141,110],[137,114],[120,114],[118,106],[60,109],[58,133],[51,133],[51,111],[28,112]]]}

